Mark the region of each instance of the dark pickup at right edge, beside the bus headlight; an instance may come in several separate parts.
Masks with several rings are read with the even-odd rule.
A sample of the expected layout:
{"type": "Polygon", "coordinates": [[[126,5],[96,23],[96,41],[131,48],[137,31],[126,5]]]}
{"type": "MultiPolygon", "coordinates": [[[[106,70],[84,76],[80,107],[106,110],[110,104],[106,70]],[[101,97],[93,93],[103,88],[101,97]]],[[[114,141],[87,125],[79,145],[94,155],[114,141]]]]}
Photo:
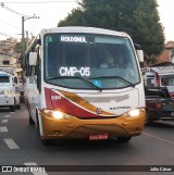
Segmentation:
{"type": "Polygon", "coordinates": [[[174,99],[166,87],[146,87],[146,124],[153,121],[174,121],[174,99]]]}

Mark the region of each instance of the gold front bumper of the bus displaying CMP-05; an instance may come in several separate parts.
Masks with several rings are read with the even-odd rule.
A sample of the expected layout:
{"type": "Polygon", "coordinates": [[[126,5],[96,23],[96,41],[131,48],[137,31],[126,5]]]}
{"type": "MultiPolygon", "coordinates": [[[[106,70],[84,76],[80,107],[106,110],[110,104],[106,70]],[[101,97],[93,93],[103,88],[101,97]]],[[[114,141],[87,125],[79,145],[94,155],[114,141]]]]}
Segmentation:
{"type": "Polygon", "coordinates": [[[121,115],[114,118],[82,120],[73,116],[55,120],[42,112],[39,116],[45,139],[89,139],[91,135],[107,135],[108,138],[138,136],[144,129],[146,112],[133,118],[121,115]]]}

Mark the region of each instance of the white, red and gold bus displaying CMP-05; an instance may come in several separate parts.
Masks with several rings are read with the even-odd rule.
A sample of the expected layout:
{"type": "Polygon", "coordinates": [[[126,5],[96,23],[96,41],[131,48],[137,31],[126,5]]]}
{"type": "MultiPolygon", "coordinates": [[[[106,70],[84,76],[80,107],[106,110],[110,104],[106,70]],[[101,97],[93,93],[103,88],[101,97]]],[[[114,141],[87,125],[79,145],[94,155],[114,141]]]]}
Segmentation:
{"type": "Polygon", "coordinates": [[[25,54],[25,101],[41,141],[126,142],[140,135],[146,112],[137,55],[142,59],[142,51],[125,33],[42,29],[25,54]]]}

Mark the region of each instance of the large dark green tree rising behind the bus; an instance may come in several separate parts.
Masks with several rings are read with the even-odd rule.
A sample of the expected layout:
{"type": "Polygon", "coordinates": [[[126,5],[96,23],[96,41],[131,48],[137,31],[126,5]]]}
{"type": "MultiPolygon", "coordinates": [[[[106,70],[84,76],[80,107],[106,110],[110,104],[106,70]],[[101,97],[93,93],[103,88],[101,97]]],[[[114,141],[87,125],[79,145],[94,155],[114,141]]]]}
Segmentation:
{"type": "Polygon", "coordinates": [[[58,26],[91,26],[126,32],[139,43],[147,60],[164,49],[157,0],[82,0],[58,26]]]}

